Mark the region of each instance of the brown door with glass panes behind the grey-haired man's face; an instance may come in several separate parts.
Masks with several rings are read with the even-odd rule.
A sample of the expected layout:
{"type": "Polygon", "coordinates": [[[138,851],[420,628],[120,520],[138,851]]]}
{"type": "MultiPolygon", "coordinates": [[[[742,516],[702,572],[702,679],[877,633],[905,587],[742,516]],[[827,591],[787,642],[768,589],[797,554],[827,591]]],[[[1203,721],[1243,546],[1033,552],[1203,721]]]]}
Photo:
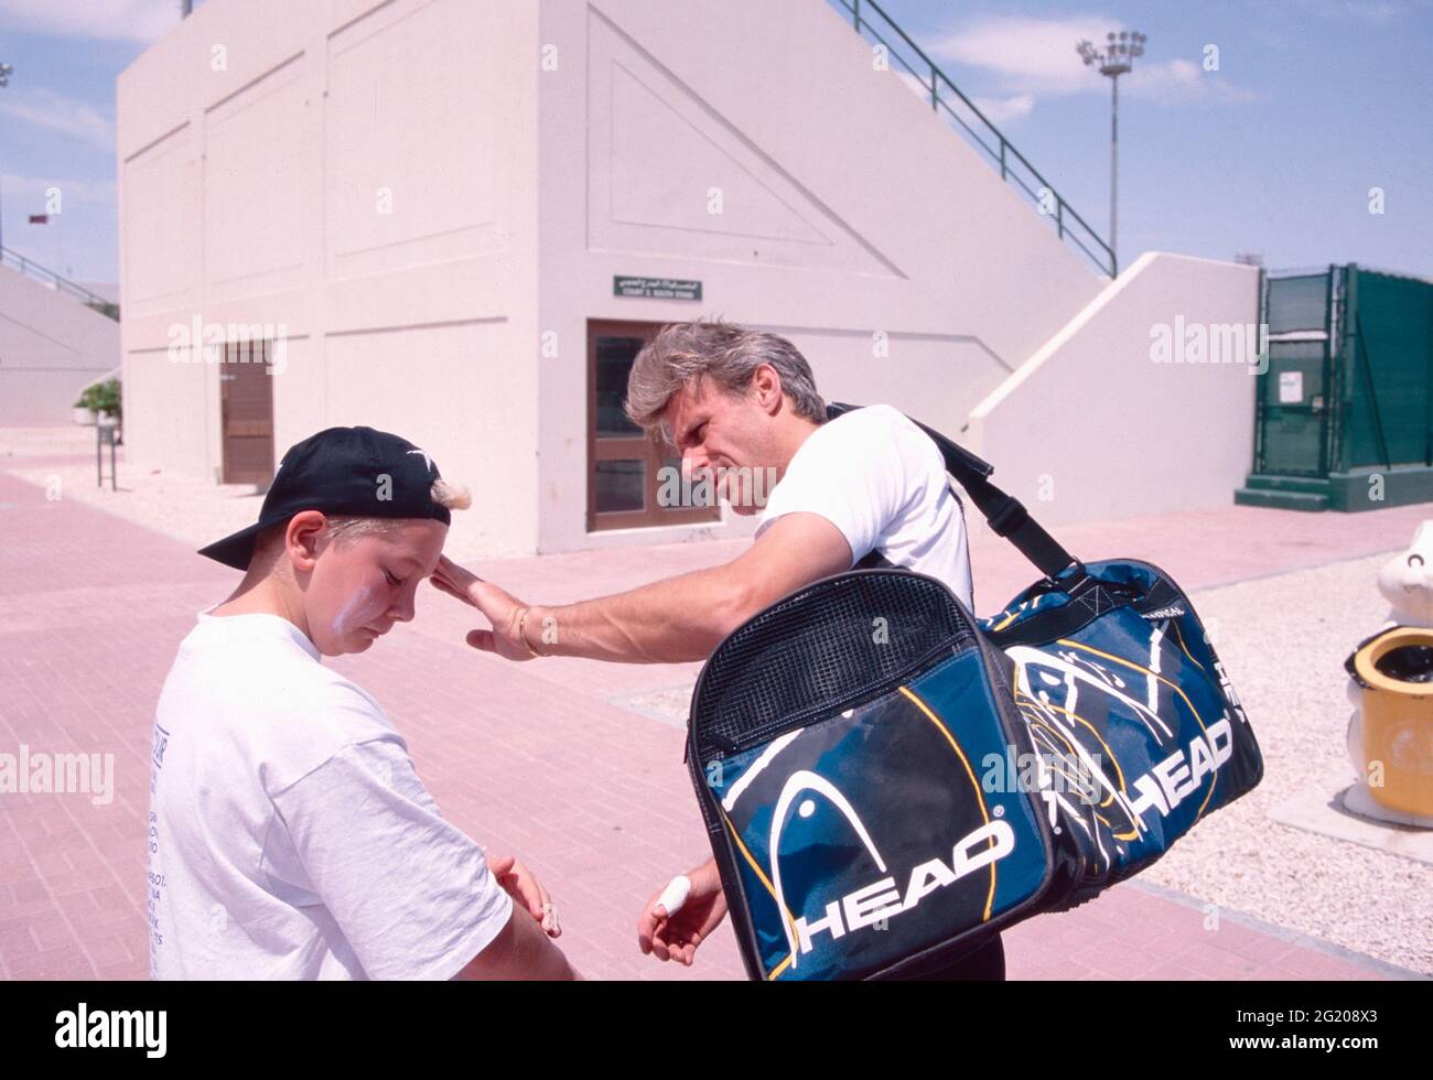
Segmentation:
{"type": "Polygon", "coordinates": [[[678,487],[671,477],[681,476],[681,455],[669,443],[643,435],[622,411],[632,361],[663,325],[588,324],[589,531],[721,520],[719,504],[663,506],[672,501],[665,496],[678,487]]]}

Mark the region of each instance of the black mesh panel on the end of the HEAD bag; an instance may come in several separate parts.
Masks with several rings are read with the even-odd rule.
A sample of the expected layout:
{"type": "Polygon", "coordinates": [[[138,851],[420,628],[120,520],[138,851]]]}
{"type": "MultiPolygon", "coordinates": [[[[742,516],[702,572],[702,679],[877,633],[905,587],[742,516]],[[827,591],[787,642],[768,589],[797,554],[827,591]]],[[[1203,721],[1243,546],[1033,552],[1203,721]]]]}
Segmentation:
{"type": "Polygon", "coordinates": [[[698,752],[732,752],[851,708],[924,660],[976,640],[939,582],[838,574],[780,600],[724,640],[692,702],[698,752]],[[884,623],[877,623],[883,619],[884,623]]]}

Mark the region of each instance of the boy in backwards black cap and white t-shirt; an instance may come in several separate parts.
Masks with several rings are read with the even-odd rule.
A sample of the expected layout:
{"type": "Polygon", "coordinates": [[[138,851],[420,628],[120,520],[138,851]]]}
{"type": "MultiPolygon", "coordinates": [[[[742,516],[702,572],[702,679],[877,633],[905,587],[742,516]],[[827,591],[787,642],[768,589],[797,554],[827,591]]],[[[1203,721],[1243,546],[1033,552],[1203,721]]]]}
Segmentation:
{"type": "Polygon", "coordinates": [[[467,504],[411,443],[330,428],[202,550],[245,574],[159,698],[152,977],[576,977],[546,891],[443,819],[378,703],[320,662],[413,617],[467,504]]]}

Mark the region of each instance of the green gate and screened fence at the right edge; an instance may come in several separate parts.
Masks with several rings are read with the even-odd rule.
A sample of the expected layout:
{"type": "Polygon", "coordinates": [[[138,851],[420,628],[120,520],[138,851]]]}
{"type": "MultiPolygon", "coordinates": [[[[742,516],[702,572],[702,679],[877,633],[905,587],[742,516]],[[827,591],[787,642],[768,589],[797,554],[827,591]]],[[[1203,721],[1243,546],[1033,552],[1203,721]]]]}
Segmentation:
{"type": "Polygon", "coordinates": [[[1433,282],[1330,266],[1270,275],[1254,471],[1235,501],[1376,510],[1433,500],[1433,282]]]}

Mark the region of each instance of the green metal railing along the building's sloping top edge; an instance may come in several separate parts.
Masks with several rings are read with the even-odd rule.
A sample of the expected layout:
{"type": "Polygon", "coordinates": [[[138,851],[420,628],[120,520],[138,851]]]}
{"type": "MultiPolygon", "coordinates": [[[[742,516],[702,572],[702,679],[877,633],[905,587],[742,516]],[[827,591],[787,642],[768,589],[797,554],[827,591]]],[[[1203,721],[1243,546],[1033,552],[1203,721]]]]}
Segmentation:
{"type": "Polygon", "coordinates": [[[926,56],[924,50],[881,10],[876,0],[830,0],[830,3],[845,11],[856,33],[884,46],[887,56],[910,72],[923,90],[930,92],[930,107],[937,113],[943,112],[959,125],[969,140],[984,152],[992,165],[1000,169],[1002,180],[1015,183],[1035,201],[1040,216],[1053,221],[1055,231],[1062,241],[1079,248],[1102,272],[1112,278],[1116,275],[1118,265],[1111,246],[1075,212],[1073,206],[1065,202],[1049,180],[1026,160],[1025,155],[1015,149],[1010,140],[1000,133],[1000,129],[986,119],[974,102],[950,82],[950,77],[936,66],[936,62],[926,56]],[[873,16],[878,24],[871,21],[873,16]],[[900,39],[919,60],[907,60],[887,37],[900,39]]]}

